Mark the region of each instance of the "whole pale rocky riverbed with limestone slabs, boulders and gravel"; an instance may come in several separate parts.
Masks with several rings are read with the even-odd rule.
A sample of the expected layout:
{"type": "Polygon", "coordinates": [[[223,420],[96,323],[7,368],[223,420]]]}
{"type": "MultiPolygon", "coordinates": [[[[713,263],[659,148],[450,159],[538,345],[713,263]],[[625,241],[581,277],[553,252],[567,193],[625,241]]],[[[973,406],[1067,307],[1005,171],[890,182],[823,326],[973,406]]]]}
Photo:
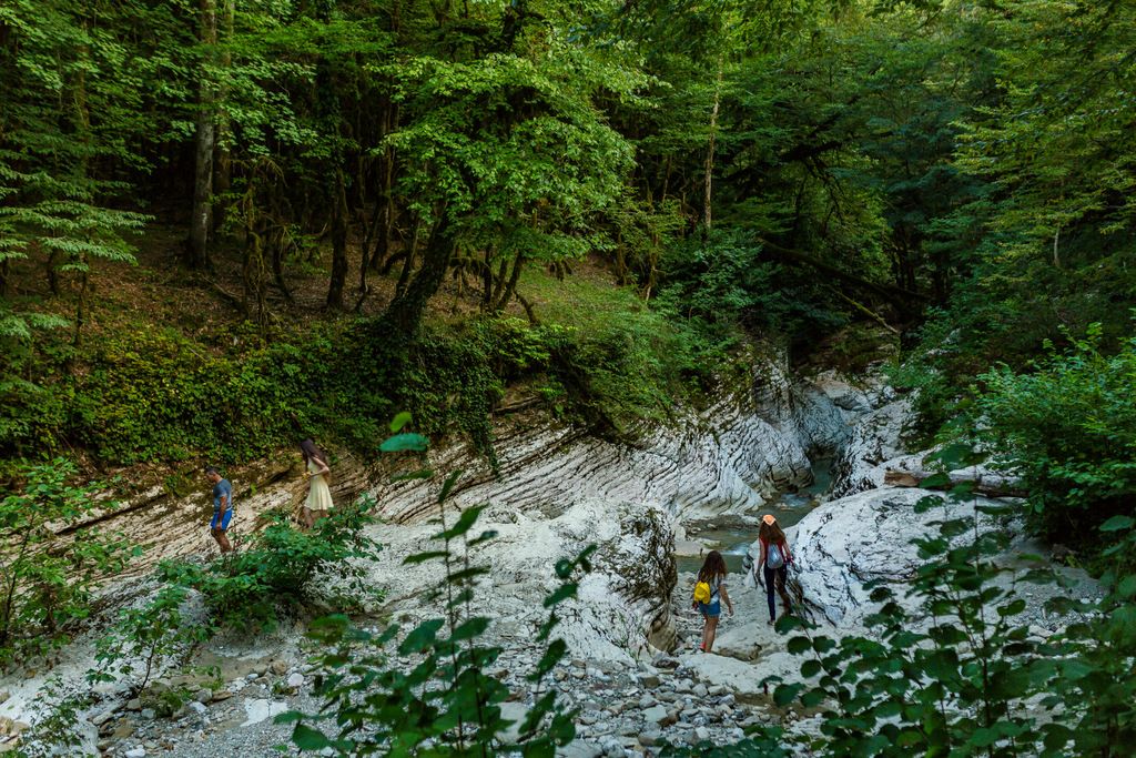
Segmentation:
{"type": "MultiPolygon", "coordinates": [[[[578,597],[561,606],[557,630],[569,655],[553,670],[552,685],[578,709],[577,739],[565,755],[651,753],[663,741],[721,744],[760,723],[813,733],[816,717],[776,708],[768,697],[763,681],[793,676],[800,661],[767,625],[763,594],[742,577],[730,580],[736,613],[722,619],[715,655],[695,650],[702,622],[690,609],[693,574],[676,568],[676,539],[680,550],[690,550],[687,530],[704,530],[716,519],[744,531],[778,492],[810,484],[810,456],[835,456],[827,501],[790,531],[797,558],[795,611],[825,625],[829,635],[866,633],[863,620],[872,607],[864,583],[883,578],[902,585],[919,564],[910,540],[927,533],[935,517],[912,508],[934,493],[911,486],[917,480],[897,485],[889,478],[921,460],[903,450],[900,432],[908,413],[904,399],[879,383],[832,374],[803,381],[768,363],[755,369],[751,390],[690,415],[677,428],[645,434],[635,445],[512,420],[499,428],[500,476],[465,448],[433,452],[436,469],[468,472],[451,509],[490,503],[478,530],[498,536],[475,555],[491,567],[479,580],[477,613],[493,619],[486,641],[504,650],[493,673],[516,693],[506,703],[507,717],[523,716],[534,698],[525,676],[543,652],[534,638],[546,618],[542,600],[558,585],[553,564],[594,543],[594,570],[582,578],[578,597]]],[[[438,616],[438,605],[424,598],[441,581],[442,567],[424,564],[411,573],[402,563],[431,547],[437,483],[391,484],[386,472],[346,468],[341,482],[348,484],[340,486],[368,492],[387,518],[374,527],[384,550],[366,567],[387,597],[362,623],[412,626],[438,616]]],[[[275,478],[266,486],[248,489],[242,516],[294,495],[299,485],[290,469],[272,470],[275,478]]],[[[341,495],[346,491],[341,489],[341,495]]],[[[182,514],[199,507],[193,499],[154,502],[182,514]]],[[[964,506],[944,505],[955,507],[964,506]]],[[[137,511],[124,513],[148,523],[137,511]]],[[[160,555],[201,549],[185,540],[157,540],[156,545],[160,555]]],[[[1013,550],[1030,547],[1019,541],[1013,550]]],[[[1077,583],[1075,592],[1095,592],[1087,577],[1063,570],[1077,583]]],[[[122,598],[143,597],[147,586],[134,580],[111,594],[120,605],[130,601],[122,598]]],[[[1026,598],[1030,633],[1038,639],[1068,620],[1041,609],[1046,593],[1055,591],[1026,598]]],[[[92,628],[57,661],[50,675],[61,681],[62,691],[86,689],[83,674],[93,663],[98,633],[92,628]]],[[[136,697],[131,681],[95,688],[94,705],[78,714],[82,744],[60,755],[281,755],[275,747],[287,743],[290,727],[272,717],[318,708],[310,653],[302,622],[254,639],[224,634],[191,661],[167,661],[157,688],[144,697],[136,697]],[[212,673],[192,665],[212,667],[212,673]]],[[[0,714],[9,722],[0,720],[0,731],[18,732],[42,711],[49,674],[39,668],[28,666],[3,683],[8,697],[0,714]]]]}

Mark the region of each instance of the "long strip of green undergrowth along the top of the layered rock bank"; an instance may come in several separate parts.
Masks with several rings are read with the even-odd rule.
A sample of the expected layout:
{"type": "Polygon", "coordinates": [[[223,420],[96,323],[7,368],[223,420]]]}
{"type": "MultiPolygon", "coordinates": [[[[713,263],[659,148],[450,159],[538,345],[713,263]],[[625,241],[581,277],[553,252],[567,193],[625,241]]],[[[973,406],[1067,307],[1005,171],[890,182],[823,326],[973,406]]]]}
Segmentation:
{"type": "MultiPolygon", "coordinates": [[[[307,435],[369,453],[382,419],[407,408],[426,419],[425,433],[462,432],[492,458],[491,413],[510,385],[527,384],[562,417],[621,433],[666,419],[730,364],[728,340],[615,305],[586,328],[509,317],[426,328],[404,356],[366,319],[233,352],[173,331],[119,331],[82,355],[40,360],[35,373],[51,378],[22,395],[26,413],[0,420],[0,456],[66,443],[114,464],[206,451],[232,463],[307,435]]],[[[237,333],[222,343],[250,341],[237,333]]]]}

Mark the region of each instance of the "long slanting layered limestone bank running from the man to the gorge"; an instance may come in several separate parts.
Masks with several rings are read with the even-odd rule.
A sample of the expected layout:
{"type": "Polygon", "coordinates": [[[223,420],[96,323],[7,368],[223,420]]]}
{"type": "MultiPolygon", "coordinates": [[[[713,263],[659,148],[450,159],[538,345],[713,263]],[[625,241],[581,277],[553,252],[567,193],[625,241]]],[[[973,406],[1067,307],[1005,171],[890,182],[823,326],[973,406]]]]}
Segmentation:
{"type": "MultiPolygon", "coordinates": [[[[494,502],[554,517],[585,500],[627,501],[655,506],[679,522],[745,513],[777,491],[810,482],[807,453],[838,445],[853,413],[842,409],[841,398],[851,392],[835,380],[819,385],[794,380],[782,363],[767,360],[753,369],[752,386],[701,413],[680,410],[673,425],[646,430],[635,442],[600,440],[544,416],[509,416],[494,424],[495,469],[465,443],[432,450],[426,463],[441,475],[465,472],[453,492],[459,507],[494,502]]],[[[392,463],[389,457],[334,456],[333,499],[368,494],[390,522],[432,517],[437,482],[391,481],[392,473],[424,463],[408,458],[392,463]]],[[[236,539],[259,528],[267,511],[295,510],[307,492],[299,452],[292,450],[224,474],[234,485],[231,532],[236,539]]],[[[94,525],[123,531],[144,548],[132,574],[164,558],[209,555],[215,550],[207,528],[209,485],[197,473],[186,473],[185,480],[172,491],[135,474],[127,482],[135,494],[69,531],[81,534],[94,525]]]]}

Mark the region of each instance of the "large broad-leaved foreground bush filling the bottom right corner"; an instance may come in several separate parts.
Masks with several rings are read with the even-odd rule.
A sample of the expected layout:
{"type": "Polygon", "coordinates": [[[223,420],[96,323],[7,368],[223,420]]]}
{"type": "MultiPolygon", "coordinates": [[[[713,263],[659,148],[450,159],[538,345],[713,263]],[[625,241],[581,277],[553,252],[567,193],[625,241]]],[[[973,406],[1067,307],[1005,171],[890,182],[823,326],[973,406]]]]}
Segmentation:
{"type": "MultiPolygon", "coordinates": [[[[946,468],[982,458],[964,448],[959,453],[960,447],[944,451],[943,459],[953,458],[946,468]]],[[[924,484],[949,482],[945,475],[932,478],[924,484]]],[[[957,502],[970,498],[970,483],[952,490],[957,502]]],[[[917,507],[943,502],[929,497],[917,507]]],[[[799,618],[778,622],[782,632],[805,631],[787,647],[807,660],[802,681],[778,685],[774,699],[821,710],[822,736],[810,744],[815,755],[1127,755],[1136,739],[1136,576],[1124,569],[1106,574],[1108,594],[1100,603],[1050,601],[1049,610],[1075,613],[1081,620],[1038,641],[1021,620],[1026,601],[1016,584],[995,581],[1006,569],[994,556],[1010,535],[991,528],[991,519],[1012,509],[977,503],[944,509],[938,534],[914,540],[927,560],[909,589],[920,598],[920,613],[909,615],[893,590],[875,588],[871,599],[883,603],[869,618],[875,639],[833,640],[799,618]],[[974,535],[972,542],[958,540],[966,535],[974,535]]],[[[1124,516],[1103,525],[1105,532],[1127,533],[1109,549],[1111,557],[1136,547],[1134,525],[1124,516]]],[[[1046,569],[1021,578],[1056,581],[1046,569]]]]}

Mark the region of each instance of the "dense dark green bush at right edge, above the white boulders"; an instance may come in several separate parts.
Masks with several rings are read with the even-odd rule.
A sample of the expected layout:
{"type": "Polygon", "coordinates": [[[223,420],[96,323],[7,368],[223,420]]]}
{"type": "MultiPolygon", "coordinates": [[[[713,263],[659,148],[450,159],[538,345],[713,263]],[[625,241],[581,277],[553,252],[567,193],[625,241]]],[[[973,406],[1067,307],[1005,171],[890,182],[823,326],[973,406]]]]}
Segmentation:
{"type": "Polygon", "coordinates": [[[1131,516],[1136,497],[1136,340],[1101,351],[1101,326],[1030,372],[980,378],[977,410],[1003,465],[1022,476],[1029,519],[1047,539],[1096,550],[1096,527],[1131,516]]]}

